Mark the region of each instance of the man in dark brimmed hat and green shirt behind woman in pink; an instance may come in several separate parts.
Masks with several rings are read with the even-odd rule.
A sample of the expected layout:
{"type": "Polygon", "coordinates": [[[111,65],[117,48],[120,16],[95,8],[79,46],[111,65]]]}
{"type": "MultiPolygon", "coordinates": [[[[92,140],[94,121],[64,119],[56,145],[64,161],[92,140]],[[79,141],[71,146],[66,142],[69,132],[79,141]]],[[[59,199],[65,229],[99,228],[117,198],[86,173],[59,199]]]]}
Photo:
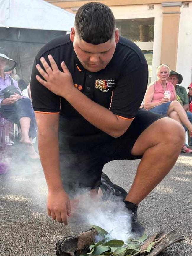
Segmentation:
{"type": "MultiPolygon", "coordinates": [[[[186,91],[185,87],[180,85],[183,81],[182,75],[171,70],[167,81],[171,82],[172,85],[174,85],[176,94],[177,94],[177,100],[183,106],[184,110],[186,111],[189,121],[192,123],[192,113],[188,112],[189,102],[188,102],[187,91],[186,91]]],[[[187,131],[187,127],[185,125],[183,125],[183,127],[185,128],[185,131],[187,131]]],[[[183,147],[182,152],[192,153],[192,150],[185,146],[185,147],[183,147]]]]}

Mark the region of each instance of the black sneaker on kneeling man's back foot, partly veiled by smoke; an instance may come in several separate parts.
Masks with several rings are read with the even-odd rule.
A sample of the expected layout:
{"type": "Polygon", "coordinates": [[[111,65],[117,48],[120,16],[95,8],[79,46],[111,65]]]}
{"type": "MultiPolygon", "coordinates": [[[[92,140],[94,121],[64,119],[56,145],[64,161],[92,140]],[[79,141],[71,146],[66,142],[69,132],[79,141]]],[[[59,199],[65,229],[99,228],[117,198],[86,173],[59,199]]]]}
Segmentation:
{"type": "Polygon", "coordinates": [[[110,195],[116,195],[122,197],[122,200],[125,200],[127,196],[127,192],[122,187],[114,184],[107,174],[102,172],[101,174],[101,186],[100,186],[102,192],[103,192],[103,200],[107,200],[110,195]]]}

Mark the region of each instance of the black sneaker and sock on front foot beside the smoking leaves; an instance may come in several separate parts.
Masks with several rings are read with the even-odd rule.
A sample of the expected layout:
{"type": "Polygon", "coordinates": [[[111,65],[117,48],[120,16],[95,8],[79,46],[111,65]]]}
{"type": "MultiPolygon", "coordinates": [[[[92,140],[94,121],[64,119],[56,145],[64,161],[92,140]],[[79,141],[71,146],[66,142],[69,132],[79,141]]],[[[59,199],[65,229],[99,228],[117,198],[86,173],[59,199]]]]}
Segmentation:
{"type": "Polygon", "coordinates": [[[132,232],[136,233],[136,235],[138,235],[138,237],[141,237],[144,232],[145,232],[145,228],[143,226],[141,226],[141,224],[139,224],[138,221],[138,217],[137,217],[137,208],[138,206],[129,202],[124,201],[126,204],[127,209],[130,211],[130,213],[132,213],[132,232]],[[131,205],[131,208],[129,208],[131,205]],[[134,207],[133,207],[134,206],[134,207]]]}

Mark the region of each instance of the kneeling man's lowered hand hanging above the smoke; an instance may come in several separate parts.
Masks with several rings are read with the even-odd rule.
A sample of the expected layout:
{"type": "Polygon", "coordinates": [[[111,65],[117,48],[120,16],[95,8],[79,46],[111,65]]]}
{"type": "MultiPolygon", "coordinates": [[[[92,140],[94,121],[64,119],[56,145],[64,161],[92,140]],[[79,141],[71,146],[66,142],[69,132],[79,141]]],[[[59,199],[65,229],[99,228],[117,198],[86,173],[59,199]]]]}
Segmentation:
{"type": "Polygon", "coordinates": [[[48,216],[53,220],[67,225],[67,216],[70,216],[71,206],[67,193],[63,190],[49,191],[47,199],[48,216]]]}

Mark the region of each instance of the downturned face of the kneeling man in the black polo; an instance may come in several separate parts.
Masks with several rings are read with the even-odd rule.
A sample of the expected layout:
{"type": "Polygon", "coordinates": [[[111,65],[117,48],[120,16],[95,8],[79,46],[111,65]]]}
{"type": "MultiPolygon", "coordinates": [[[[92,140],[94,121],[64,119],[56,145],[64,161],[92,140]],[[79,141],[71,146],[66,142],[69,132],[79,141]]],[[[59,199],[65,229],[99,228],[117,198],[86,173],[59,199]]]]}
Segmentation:
{"type": "Polygon", "coordinates": [[[74,28],[71,29],[71,41],[77,58],[84,68],[90,72],[97,72],[104,69],[113,57],[116,44],[119,41],[118,29],[115,34],[105,43],[93,45],[82,40],[74,28]]]}

